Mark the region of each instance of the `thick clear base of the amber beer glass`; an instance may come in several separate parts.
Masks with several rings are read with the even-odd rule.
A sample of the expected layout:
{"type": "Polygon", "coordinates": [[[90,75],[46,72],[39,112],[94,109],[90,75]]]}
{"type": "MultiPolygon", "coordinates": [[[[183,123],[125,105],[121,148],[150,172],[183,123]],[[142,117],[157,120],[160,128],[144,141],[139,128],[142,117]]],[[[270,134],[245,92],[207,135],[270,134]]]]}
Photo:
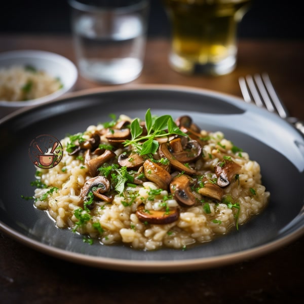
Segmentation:
{"type": "Polygon", "coordinates": [[[193,62],[175,53],[171,53],[169,56],[171,67],[177,72],[185,74],[206,74],[212,76],[224,75],[232,72],[236,68],[236,62],[236,55],[229,56],[216,63],[193,62]]]}

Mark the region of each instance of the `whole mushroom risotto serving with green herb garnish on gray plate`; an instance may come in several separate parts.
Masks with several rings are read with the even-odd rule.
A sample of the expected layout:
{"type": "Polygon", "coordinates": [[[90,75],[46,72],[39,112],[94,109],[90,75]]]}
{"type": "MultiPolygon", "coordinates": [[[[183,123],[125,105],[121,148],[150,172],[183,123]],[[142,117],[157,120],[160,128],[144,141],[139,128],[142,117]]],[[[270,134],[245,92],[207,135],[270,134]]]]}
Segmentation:
{"type": "Polygon", "coordinates": [[[185,249],[238,230],[267,205],[260,167],[220,131],[183,116],[118,119],[66,136],[36,172],[35,206],[84,241],[185,249]]]}

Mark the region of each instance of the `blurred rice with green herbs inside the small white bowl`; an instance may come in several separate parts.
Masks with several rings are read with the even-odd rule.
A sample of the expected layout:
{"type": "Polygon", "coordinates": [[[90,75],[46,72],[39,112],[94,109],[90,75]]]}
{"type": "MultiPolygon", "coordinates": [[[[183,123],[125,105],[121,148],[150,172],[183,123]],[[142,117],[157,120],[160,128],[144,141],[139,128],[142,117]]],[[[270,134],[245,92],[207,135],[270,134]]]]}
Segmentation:
{"type": "Polygon", "coordinates": [[[33,66],[0,68],[0,100],[26,101],[45,97],[62,88],[60,79],[33,66]]]}

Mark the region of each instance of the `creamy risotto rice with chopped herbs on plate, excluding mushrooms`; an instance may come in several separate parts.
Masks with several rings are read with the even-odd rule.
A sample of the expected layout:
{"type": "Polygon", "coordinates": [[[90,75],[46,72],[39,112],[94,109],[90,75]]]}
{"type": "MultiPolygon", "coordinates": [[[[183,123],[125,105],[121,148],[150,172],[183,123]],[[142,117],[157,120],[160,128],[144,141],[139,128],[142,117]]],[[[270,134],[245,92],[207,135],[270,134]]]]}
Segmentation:
{"type": "MultiPolygon", "coordinates": [[[[131,121],[121,116],[116,126],[125,120],[131,121]]],[[[225,235],[232,229],[241,229],[240,225],[267,206],[270,193],[261,184],[259,164],[250,160],[248,153],[225,139],[222,132],[204,130],[199,132],[198,140],[202,145],[200,157],[186,164],[196,171],[195,174],[178,171],[172,168],[169,161],[169,165],[166,163],[167,167],[163,166],[171,174],[166,188],[160,187],[159,182],[153,181],[153,178],[152,181],[147,180],[150,172],[144,171],[145,176],[141,184],[125,181],[121,192],[117,191],[116,180],[116,185],[111,185],[110,190],[102,194],[107,196],[106,198],[112,195],[111,202],[96,199],[95,196],[92,196],[91,201],[89,196],[83,199],[82,189],[95,175],[105,176],[107,169],[110,170],[107,178],[113,181],[113,176],[117,178],[117,175],[123,172],[122,167],[117,167],[118,157],[127,148],[122,144],[112,147],[116,157],[102,164],[103,169],[98,170],[95,175],[92,175],[92,168],[87,159],[88,155],[91,160],[97,158],[97,155],[93,155],[94,152],[87,150],[86,154],[84,149],[79,149],[78,153],[69,155],[67,149],[71,150],[71,144],[79,147],[75,138],[88,142],[96,134],[100,137],[101,144],[109,144],[107,134],[110,134],[109,130],[113,128],[116,127],[98,124],[89,126],[83,134],[65,137],[61,141],[64,150],[61,162],[52,169],[38,170],[37,176],[46,187],[35,189],[35,207],[47,210],[60,229],[70,229],[74,233],[84,235],[85,241],[95,239],[104,245],[124,243],[139,250],[164,247],[185,249],[193,244],[212,241],[216,236],[225,235]],[[233,164],[237,168],[237,174],[233,175],[229,184],[220,187],[217,185],[219,177],[215,173],[215,167],[220,169],[225,162],[233,164]],[[180,176],[187,176],[188,180],[193,181],[192,187],[188,188],[195,197],[195,203],[191,206],[179,201],[175,192],[176,185],[172,186],[174,178],[180,176]],[[216,189],[220,188],[220,199],[206,195],[204,191],[207,185],[210,188],[212,185],[215,185],[216,189]],[[148,220],[142,218],[139,209],[145,212],[148,220]],[[161,212],[164,217],[178,212],[178,216],[169,222],[157,219],[155,223],[149,216],[157,212],[161,212]]],[[[170,138],[165,137],[162,141],[169,140],[170,138]]],[[[159,149],[154,154],[154,159],[158,164],[163,159],[159,149]]],[[[173,159],[171,161],[174,162],[173,159]]],[[[139,172],[140,169],[127,169],[130,174],[135,171],[139,172]]]]}

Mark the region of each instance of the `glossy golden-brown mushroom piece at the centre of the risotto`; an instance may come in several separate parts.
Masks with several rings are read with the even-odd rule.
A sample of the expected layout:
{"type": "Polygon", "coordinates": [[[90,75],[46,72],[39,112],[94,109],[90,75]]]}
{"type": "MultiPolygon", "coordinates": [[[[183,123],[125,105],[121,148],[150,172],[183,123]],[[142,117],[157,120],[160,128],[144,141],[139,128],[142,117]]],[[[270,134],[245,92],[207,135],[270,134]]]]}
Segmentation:
{"type": "Polygon", "coordinates": [[[161,189],[167,190],[172,177],[166,169],[150,160],[146,160],[143,163],[143,172],[148,180],[155,182],[161,189]]]}

